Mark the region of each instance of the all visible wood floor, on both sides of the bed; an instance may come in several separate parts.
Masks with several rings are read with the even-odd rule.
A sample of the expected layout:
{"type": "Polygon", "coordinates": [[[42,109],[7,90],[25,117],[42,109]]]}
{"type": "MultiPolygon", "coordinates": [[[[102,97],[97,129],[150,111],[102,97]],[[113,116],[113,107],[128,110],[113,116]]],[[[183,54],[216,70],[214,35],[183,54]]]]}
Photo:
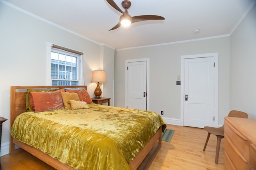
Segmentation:
{"type": "MultiPolygon", "coordinates": [[[[149,170],[224,170],[224,140],[220,146],[219,164],[215,162],[216,136],[211,135],[203,152],[207,132],[204,129],[167,125],[175,130],[172,141],[162,147],[149,170]]],[[[18,149],[14,155],[1,157],[2,170],[54,170],[28,152],[18,149]]]]}

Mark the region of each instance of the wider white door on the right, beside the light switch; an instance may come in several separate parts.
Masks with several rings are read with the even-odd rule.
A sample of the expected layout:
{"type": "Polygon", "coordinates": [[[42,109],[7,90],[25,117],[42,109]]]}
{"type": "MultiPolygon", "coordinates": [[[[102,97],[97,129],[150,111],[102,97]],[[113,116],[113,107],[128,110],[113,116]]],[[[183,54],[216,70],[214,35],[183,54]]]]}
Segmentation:
{"type": "Polygon", "coordinates": [[[214,57],[184,60],[184,125],[214,126],[214,57]]]}

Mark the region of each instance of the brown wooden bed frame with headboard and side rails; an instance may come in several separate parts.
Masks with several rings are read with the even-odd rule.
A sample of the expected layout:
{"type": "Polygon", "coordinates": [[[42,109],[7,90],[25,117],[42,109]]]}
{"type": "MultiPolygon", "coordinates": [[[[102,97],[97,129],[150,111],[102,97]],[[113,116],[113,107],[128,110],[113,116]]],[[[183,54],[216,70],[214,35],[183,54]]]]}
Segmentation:
{"type": "MultiPolygon", "coordinates": [[[[21,113],[26,112],[26,89],[45,90],[54,88],[83,88],[87,90],[87,86],[11,86],[11,103],[10,103],[10,127],[12,127],[15,118],[21,113]]],[[[162,143],[162,126],[146,144],[146,146],[138,153],[138,155],[130,162],[129,166],[132,170],[148,169],[154,160],[162,143]]],[[[74,170],[71,166],[63,164],[59,160],[52,158],[48,154],[15,140],[10,135],[10,154],[14,154],[15,145],[26,150],[30,154],[36,156],[40,160],[49,164],[57,170],[74,170]]]]}

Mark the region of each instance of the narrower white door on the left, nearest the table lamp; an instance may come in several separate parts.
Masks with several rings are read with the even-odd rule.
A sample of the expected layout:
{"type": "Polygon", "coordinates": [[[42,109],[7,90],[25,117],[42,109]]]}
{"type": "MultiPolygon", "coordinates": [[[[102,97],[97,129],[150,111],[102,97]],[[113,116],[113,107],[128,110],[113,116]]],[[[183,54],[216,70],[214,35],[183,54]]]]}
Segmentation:
{"type": "Polygon", "coordinates": [[[127,108],[147,109],[147,61],[128,62],[126,67],[127,108]]]}

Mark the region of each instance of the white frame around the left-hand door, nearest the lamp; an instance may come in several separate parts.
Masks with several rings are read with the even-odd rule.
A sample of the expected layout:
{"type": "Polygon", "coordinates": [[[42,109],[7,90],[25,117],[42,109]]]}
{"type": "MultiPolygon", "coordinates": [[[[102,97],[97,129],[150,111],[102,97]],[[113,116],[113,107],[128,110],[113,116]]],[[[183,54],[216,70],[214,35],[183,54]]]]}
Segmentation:
{"type": "MultiPolygon", "coordinates": [[[[130,60],[125,60],[125,69],[128,66],[128,63],[132,63],[132,62],[141,62],[141,61],[146,61],[147,62],[147,90],[146,90],[146,100],[147,100],[147,104],[146,104],[146,110],[149,110],[149,97],[150,97],[150,93],[149,93],[149,58],[144,58],[144,59],[130,59],[130,60]]],[[[125,70],[125,99],[124,99],[124,106],[127,106],[127,70],[125,70]]]]}

